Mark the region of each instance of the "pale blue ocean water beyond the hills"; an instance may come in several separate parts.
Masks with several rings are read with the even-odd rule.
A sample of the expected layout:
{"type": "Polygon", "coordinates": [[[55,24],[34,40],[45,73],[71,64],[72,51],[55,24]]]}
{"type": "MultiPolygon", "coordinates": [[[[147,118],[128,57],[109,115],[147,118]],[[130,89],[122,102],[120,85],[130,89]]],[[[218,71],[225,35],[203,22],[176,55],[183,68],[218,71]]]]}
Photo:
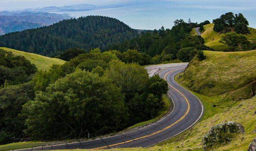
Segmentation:
{"type": "Polygon", "coordinates": [[[234,14],[242,13],[249,21],[249,26],[256,28],[256,2],[175,2],[172,4],[154,4],[128,6],[105,10],[81,11],[81,12],[55,12],[68,13],[74,17],[100,15],[113,17],[128,24],[131,28],[142,30],[154,30],[172,28],[176,19],[192,22],[203,22],[220,17],[226,12],[234,14]]]}

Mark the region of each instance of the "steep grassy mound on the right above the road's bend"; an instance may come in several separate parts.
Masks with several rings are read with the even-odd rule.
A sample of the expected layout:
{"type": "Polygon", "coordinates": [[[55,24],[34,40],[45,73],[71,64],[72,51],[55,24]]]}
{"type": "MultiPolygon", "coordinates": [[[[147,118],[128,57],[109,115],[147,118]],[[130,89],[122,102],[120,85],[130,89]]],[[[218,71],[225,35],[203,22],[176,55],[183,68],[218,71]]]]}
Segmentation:
{"type": "Polygon", "coordinates": [[[232,99],[251,97],[256,89],[256,50],[204,53],[206,60],[199,62],[194,58],[180,74],[180,83],[203,95],[228,94],[232,99]]]}

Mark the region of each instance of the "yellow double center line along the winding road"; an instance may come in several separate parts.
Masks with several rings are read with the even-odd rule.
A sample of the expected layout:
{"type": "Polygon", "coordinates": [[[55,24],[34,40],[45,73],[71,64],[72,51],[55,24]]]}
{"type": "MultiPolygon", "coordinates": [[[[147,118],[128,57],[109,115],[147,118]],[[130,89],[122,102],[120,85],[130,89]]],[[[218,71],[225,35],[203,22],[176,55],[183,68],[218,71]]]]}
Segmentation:
{"type": "MultiPolygon", "coordinates": [[[[184,69],[184,68],[179,68],[179,69],[176,69],[176,70],[180,70],[180,69],[184,69]]],[[[165,74],[165,75],[164,75],[164,80],[167,81],[167,80],[166,80],[166,76],[167,76],[168,74],[170,74],[171,72],[174,72],[174,71],[176,71],[176,70],[172,70],[172,71],[168,72],[167,74],[165,74]]],[[[168,82],[167,82],[167,83],[168,83],[168,82]]],[[[103,147],[94,148],[94,149],[92,149],[92,150],[104,149],[104,148],[106,148],[106,147],[113,147],[113,146],[117,146],[117,145],[122,145],[122,144],[130,143],[130,142],[132,142],[132,141],[136,141],[136,140],[139,140],[139,139],[144,139],[144,138],[149,137],[149,136],[152,136],[152,135],[156,135],[157,133],[160,133],[160,132],[162,132],[162,131],[164,131],[164,130],[166,130],[166,129],[169,129],[170,127],[172,127],[173,125],[175,125],[176,123],[178,123],[178,122],[180,122],[182,119],[184,119],[184,118],[186,117],[186,115],[188,115],[188,112],[189,112],[189,110],[190,110],[190,103],[189,103],[188,99],[187,99],[180,91],[178,91],[176,88],[174,88],[172,85],[170,85],[170,83],[168,83],[168,85],[169,85],[170,87],[172,87],[172,89],[174,89],[175,91],[177,91],[178,93],[180,93],[180,95],[182,95],[182,97],[186,100],[186,102],[187,102],[187,104],[188,104],[188,109],[187,109],[186,113],[185,113],[180,119],[178,119],[177,121],[175,121],[175,122],[172,123],[171,125],[165,127],[164,129],[161,129],[161,130],[156,131],[156,132],[154,132],[154,133],[151,133],[151,134],[149,134],[149,135],[145,135],[145,136],[142,136],[142,137],[138,137],[138,138],[132,139],[132,140],[130,140],[130,141],[124,141],[124,142],[122,142],[122,143],[116,143],[116,144],[113,144],[113,145],[108,145],[108,146],[103,146],[103,147]]]]}

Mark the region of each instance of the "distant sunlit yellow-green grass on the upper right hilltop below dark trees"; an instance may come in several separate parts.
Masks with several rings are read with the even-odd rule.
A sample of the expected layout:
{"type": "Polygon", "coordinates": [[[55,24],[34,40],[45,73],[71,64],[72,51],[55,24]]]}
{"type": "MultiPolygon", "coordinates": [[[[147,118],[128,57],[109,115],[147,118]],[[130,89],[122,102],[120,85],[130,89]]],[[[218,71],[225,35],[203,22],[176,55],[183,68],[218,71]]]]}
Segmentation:
{"type": "MultiPolygon", "coordinates": [[[[204,25],[204,32],[201,34],[201,36],[204,38],[206,46],[209,46],[216,51],[223,51],[225,48],[227,48],[227,46],[220,43],[219,41],[224,34],[214,32],[213,26],[214,24],[204,25]]],[[[249,30],[250,34],[245,36],[248,38],[248,40],[256,40],[256,29],[249,27],[249,30]]]]}

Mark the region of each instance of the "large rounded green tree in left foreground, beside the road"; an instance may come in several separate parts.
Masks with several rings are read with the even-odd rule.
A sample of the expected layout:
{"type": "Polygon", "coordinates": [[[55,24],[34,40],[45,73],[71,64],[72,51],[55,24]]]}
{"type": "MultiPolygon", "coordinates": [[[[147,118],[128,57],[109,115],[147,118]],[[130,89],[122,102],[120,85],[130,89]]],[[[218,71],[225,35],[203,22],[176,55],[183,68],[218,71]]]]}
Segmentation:
{"type": "Polygon", "coordinates": [[[25,133],[34,139],[100,135],[124,127],[124,95],[107,77],[77,70],[24,106],[25,133]]]}

